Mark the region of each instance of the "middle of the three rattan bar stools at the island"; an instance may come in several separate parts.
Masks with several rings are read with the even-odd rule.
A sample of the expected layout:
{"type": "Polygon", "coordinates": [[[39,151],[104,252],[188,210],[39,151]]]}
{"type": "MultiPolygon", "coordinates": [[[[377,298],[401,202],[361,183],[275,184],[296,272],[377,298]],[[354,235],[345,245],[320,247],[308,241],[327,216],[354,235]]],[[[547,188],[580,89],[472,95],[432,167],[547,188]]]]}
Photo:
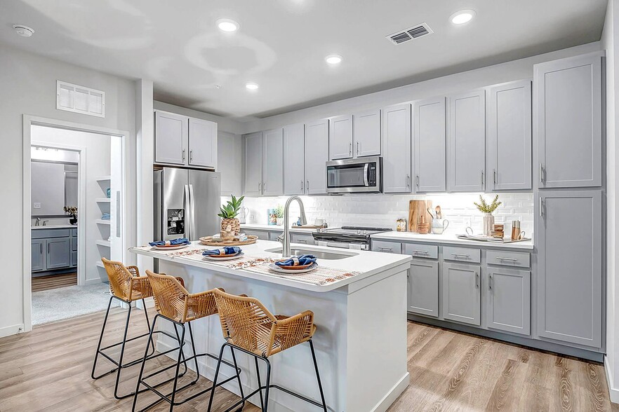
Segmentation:
{"type": "Polygon", "coordinates": [[[230,364],[229,362],[223,362],[223,363],[232,367],[236,371],[234,376],[232,376],[231,378],[228,378],[227,380],[222,381],[216,386],[213,384],[211,387],[208,387],[205,390],[192,394],[191,396],[183,399],[182,401],[175,401],[175,397],[178,392],[185,390],[187,387],[195,385],[197,381],[199,380],[200,374],[198,371],[198,357],[206,356],[206,357],[211,357],[212,359],[219,360],[218,357],[216,357],[215,355],[211,355],[210,353],[196,353],[196,345],[194,343],[194,335],[192,332],[192,324],[191,324],[192,321],[200,319],[201,317],[207,317],[207,316],[215,315],[215,313],[217,313],[217,306],[215,305],[215,297],[213,296],[213,291],[204,291],[204,292],[200,292],[197,294],[190,294],[189,291],[187,291],[187,289],[185,289],[185,287],[178,281],[178,278],[173,277],[173,276],[152,273],[150,270],[146,271],[146,275],[152,287],[152,292],[153,292],[155,301],[157,302],[157,315],[155,315],[154,320],[152,321],[152,325],[150,327],[150,335],[149,335],[147,347],[145,350],[145,357],[143,358],[144,360],[142,361],[140,375],[138,376],[138,386],[135,388],[135,392],[134,392],[135,395],[133,397],[132,411],[135,411],[135,406],[138,402],[138,393],[143,392],[143,390],[140,390],[140,386],[142,385],[145,386],[147,390],[151,390],[152,392],[157,394],[159,399],[152,402],[145,408],[140,409],[140,411],[146,411],[147,409],[151,408],[152,406],[154,406],[155,404],[158,404],[161,401],[167,401],[168,404],[170,404],[170,411],[172,411],[174,406],[184,404],[185,402],[190,401],[196,397],[199,397],[201,394],[204,394],[208,392],[209,390],[212,390],[213,392],[215,392],[216,386],[224,385],[230,380],[237,379],[240,385],[241,384],[241,377],[240,377],[241,369],[239,369],[239,367],[237,366],[236,357],[233,356],[232,359],[233,359],[234,364],[230,364]],[[166,369],[162,369],[154,373],[149,373],[147,376],[144,376],[145,364],[147,360],[149,359],[146,356],[148,352],[148,346],[152,345],[152,335],[154,333],[155,324],[157,324],[157,320],[159,319],[171,322],[174,325],[174,329],[176,331],[177,336],[178,336],[177,327],[180,328],[180,337],[178,338],[180,348],[182,348],[182,343],[185,342],[185,325],[187,325],[187,329],[189,330],[189,341],[191,342],[192,353],[193,353],[192,356],[185,357],[182,349],[178,351],[178,359],[176,360],[175,364],[171,365],[171,366],[175,366],[176,372],[175,372],[174,377],[172,378],[174,380],[172,392],[168,394],[163,394],[159,390],[156,389],[156,387],[161,384],[151,385],[147,383],[146,380],[156,376],[157,374],[161,373],[164,370],[169,369],[170,366],[168,366],[166,369]],[[182,376],[182,374],[179,375],[178,373],[180,370],[180,364],[185,363],[185,366],[186,366],[187,362],[191,361],[192,359],[195,362],[196,377],[191,382],[186,383],[182,387],[177,387],[178,378],[182,376]]]}

